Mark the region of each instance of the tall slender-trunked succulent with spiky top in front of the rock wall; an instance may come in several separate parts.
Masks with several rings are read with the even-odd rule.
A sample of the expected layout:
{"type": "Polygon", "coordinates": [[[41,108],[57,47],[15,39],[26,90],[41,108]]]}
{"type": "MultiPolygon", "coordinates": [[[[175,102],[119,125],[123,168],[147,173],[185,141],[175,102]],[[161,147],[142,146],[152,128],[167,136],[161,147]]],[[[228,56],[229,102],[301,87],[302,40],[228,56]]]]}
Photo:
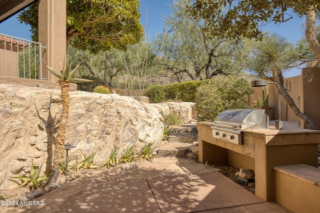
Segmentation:
{"type": "MultiPolygon", "coordinates": [[[[80,62],[81,63],[81,62],[80,62]]],[[[58,83],[61,88],[61,99],[62,99],[62,112],[59,122],[58,134],[54,140],[54,152],[53,152],[53,169],[58,169],[61,165],[64,153],[64,143],[65,143],[65,127],[66,120],[69,114],[69,85],[71,83],[85,83],[92,82],[91,80],[82,78],[72,78],[72,76],[78,70],[80,63],[70,71],[72,62],[69,61],[67,64],[63,61],[63,65],[60,63],[60,74],[57,74],[51,67],[46,66],[48,70],[56,77],[59,78],[58,83]]]]}

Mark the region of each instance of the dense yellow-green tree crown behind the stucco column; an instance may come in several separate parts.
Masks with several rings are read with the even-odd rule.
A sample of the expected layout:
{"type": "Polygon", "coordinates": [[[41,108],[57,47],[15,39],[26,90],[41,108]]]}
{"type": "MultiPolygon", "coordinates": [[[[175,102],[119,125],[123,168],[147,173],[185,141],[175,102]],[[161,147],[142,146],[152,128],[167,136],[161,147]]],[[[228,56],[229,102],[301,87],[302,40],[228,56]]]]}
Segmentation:
{"type": "MultiPolygon", "coordinates": [[[[142,37],[138,0],[66,0],[66,47],[98,53],[111,47],[125,49],[142,37]]],[[[38,40],[38,3],[23,10],[18,18],[31,26],[38,40]]]]}

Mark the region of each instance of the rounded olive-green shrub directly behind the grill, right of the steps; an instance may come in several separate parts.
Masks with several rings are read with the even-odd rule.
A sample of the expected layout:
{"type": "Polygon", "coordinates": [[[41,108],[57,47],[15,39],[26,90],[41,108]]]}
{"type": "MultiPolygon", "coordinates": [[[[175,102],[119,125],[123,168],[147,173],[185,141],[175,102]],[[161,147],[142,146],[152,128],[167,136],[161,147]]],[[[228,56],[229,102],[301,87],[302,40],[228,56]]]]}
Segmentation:
{"type": "Polygon", "coordinates": [[[226,109],[248,108],[248,96],[252,93],[251,86],[244,79],[215,76],[198,87],[195,93],[197,118],[199,121],[212,121],[226,109]]]}

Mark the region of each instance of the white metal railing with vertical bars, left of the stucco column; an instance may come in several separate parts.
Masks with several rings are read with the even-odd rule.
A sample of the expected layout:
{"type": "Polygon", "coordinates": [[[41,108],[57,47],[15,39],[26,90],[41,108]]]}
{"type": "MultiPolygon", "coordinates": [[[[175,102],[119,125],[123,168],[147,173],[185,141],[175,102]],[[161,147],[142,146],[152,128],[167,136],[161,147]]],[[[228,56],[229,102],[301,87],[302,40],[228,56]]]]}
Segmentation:
{"type": "Polygon", "coordinates": [[[39,42],[0,33],[0,75],[46,80],[42,78],[42,48],[39,42]]]}

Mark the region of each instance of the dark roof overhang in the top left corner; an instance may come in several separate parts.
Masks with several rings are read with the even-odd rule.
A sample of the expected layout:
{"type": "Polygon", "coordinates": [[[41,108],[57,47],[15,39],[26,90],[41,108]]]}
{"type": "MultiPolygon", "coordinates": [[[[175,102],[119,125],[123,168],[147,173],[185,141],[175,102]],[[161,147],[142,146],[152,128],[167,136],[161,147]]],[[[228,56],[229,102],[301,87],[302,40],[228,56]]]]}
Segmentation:
{"type": "Polygon", "coordinates": [[[0,0],[0,23],[37,0],[0,0]]]}

